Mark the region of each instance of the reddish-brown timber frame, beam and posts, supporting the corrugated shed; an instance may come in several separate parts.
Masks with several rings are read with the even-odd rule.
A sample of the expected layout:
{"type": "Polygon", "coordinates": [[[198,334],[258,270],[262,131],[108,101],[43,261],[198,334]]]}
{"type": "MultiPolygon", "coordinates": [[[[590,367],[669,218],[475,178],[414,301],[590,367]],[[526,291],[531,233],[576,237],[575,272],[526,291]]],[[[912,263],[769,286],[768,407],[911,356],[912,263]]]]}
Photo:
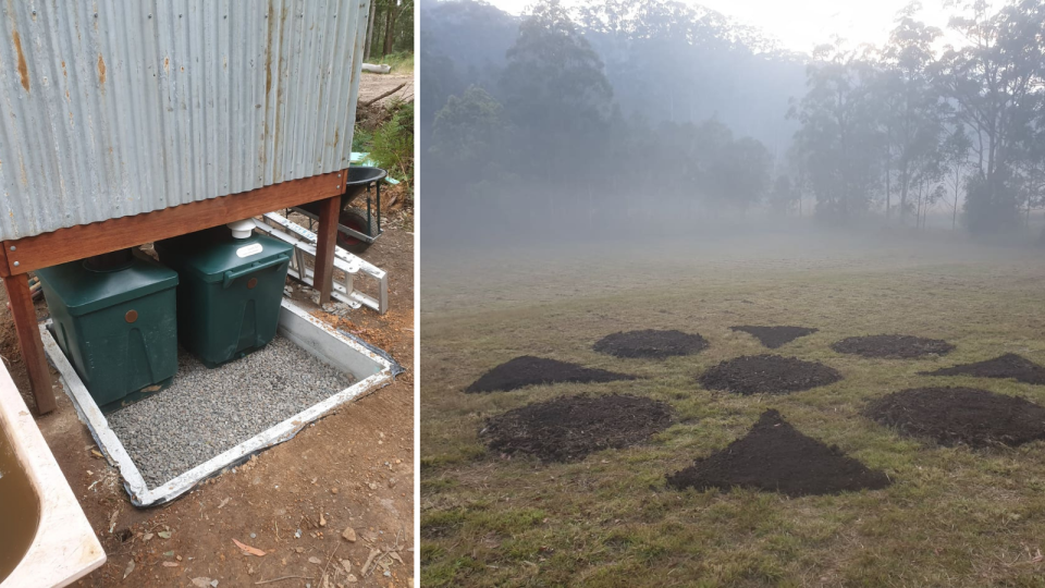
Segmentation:
{"type": "MultiPolygon", "coordinates": [[[[0,250],[0,277],[3,278],[8,299],[11,302],[14,327],[22,347],[22,359],[29,373],[29,383],[33,395],[36,397],[38,413],[46,414],[53,411],[56,403],[47,360],[44,356],[44,343],[36,323],[36,310],[29,293],[27,272],[316,200],[336,200],[340,205],[346,174],[347,170],[324,173],[134,217],[110,219],[59,229],[30,237],[4,241],[3,248],[0,250]]],[[[333,217],[332,225],[336,232],[337,211],[333,217]]],[[[320,228],[322,226],[322,220],[320,220],[320,228]]],[[[327,275],[332,277],[332,267],[333,241],[330,255],[325,258],[317,256],[316,270],[317,272],[322,270],[327,275]]],[[[330,283],[330,280],[327,282],[330,283]]],[[[329,298],[328,291],[327,299],[329,298]]]]}

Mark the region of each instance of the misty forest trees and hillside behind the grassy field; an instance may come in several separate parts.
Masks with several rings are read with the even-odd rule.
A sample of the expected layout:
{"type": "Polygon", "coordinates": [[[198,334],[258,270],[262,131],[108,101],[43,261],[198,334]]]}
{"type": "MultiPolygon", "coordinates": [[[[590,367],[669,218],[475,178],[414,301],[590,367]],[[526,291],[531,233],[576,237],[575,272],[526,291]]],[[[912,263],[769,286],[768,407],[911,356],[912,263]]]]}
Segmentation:
{"type": "Polygon", "coordinates": [[[1015,226],[1045,205],[1045,8],[956,5],[968,42],[938,51],[918,9],[884,47],[810,59],[676,2],[545,0],[521,20],[440,2],[422,16],[422,176],[447,208],[509,215],[812,201],[832,222],[943,207],[974,232],[1015,226]]]}

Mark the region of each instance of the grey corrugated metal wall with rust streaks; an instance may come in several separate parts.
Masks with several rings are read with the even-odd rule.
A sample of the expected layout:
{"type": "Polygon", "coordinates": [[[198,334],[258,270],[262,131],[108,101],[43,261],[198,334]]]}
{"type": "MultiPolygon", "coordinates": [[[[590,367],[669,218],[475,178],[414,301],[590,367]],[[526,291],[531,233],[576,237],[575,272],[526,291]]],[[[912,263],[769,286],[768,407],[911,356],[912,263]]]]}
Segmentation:
{"type": "Polygon", "coordinates": [[[0,3],[0,240],[348,167],[370,0],[0,3]]]}

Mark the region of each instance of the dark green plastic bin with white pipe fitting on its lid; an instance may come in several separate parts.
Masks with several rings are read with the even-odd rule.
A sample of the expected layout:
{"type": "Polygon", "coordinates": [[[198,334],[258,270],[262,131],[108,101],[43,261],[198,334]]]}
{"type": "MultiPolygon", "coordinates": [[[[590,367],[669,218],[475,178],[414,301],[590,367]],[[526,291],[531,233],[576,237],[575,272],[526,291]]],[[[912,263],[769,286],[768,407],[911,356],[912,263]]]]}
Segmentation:
{"type": "Polygon", "coordinates": [[[238,221],[155,244],[177,271],[177,332],[208,367],[243,357],[275,336],[293,247],[238,221]]]}

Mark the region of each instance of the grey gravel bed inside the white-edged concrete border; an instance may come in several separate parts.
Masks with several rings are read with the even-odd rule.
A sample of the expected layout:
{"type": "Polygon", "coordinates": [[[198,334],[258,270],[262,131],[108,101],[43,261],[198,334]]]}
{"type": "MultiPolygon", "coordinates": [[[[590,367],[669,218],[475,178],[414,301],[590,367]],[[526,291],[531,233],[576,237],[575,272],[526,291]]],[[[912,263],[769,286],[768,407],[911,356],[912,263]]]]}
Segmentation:
{"type": "Polygon", "coordinates": [[[174,383],[109,415],[109,427],[156,488],[352,383],[280,335],[216,369],[180,348],[174,383]]]}

